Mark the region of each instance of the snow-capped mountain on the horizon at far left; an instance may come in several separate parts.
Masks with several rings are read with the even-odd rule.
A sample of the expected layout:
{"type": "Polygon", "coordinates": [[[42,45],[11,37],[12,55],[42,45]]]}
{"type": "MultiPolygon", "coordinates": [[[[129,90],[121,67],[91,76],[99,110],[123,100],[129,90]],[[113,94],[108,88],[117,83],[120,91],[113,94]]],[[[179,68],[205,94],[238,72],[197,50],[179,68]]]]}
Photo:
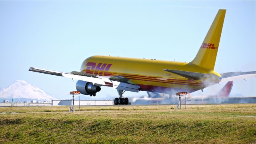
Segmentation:
{"type": "Polygon", "coordinates": [[[33,100],[58,100],[57,98],[54,98],[41,90],[40,88],[37,88],[36,86],[33,86],[32,84],[28,84],[24,80],[16,80],[13,84],[8,86],[7,88],[3,88],[0,91],[0,98],[26,98],[26,99],[33,99],[33,100]]]}

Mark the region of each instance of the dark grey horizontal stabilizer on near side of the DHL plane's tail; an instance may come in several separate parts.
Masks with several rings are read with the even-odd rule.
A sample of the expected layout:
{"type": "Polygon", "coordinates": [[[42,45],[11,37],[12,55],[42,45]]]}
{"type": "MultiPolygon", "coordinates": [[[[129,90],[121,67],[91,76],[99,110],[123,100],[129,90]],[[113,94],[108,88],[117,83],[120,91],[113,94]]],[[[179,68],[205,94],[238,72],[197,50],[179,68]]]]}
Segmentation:
{"type": "Polygon", "coordinates": [[[164,69],[167,72],[171,72],[174,74],[177,74],[179,76],[183,76],[184,78],[187,78],[189,80],[200,80],[202,78],[206,78],[210,76],[211,74],[203,74],[203,73],[198,73],[198,72],[188,72],[188,71],[182,71],[182,70],[169,70],[169,69],[164,69]]]}

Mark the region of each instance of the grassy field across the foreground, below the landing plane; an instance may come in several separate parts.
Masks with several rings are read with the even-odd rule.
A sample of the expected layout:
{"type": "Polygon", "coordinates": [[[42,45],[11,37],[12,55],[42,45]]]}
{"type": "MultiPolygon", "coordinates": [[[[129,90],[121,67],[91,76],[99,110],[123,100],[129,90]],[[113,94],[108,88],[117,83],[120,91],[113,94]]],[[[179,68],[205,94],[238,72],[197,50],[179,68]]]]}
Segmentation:
{"type": "Polygon", "coordinates": [[[72,113],[69,106],[4,107],[0,144],[256,143],[256,104],[174,108],[82,106],[72,113]]]}

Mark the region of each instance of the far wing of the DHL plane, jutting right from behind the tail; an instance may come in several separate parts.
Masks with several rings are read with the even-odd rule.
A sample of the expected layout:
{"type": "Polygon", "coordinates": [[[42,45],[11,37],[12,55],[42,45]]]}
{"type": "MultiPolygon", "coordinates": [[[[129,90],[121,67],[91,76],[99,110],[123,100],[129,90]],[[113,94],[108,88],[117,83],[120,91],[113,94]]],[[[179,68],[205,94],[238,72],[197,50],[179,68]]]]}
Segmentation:
{"type": "Polygon", "coordinates": [[[226,72],[220,74],[222,76],[222,79],[220,82],[228,82],[233,80],[240,80],[240,79],[246,79],[246,78],[252,78],[256,77],[256,71],[251,72],[226,72]]]}

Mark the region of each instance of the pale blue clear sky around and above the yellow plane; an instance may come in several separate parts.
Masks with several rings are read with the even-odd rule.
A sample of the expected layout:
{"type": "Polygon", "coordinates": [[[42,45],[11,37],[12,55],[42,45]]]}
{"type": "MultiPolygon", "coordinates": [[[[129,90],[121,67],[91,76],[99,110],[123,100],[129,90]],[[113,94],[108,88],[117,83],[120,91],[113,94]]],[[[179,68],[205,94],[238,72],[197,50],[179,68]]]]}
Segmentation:
{"type": "MultiPolygon", "coordinates": [[[[92,55],[190,62],[218,9],[227,11],[214,70],[256,70],[255,1],[0,1],[0,87],[25,80],[68,99],[76,81],[28,69],[79,71],[92,55]]],[[[231,95],[255,96],[255,83],[235,81],[231,95]]],[[[96,97],[106,96],[118,94],[96,97]]]]}

